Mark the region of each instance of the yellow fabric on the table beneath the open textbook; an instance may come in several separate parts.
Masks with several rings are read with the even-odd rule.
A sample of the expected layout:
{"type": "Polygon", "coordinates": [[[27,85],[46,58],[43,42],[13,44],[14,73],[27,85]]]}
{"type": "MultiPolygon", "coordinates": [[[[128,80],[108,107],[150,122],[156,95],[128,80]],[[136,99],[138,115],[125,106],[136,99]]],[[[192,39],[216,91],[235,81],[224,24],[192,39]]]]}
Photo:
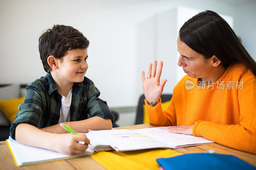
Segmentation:
{"type": "Polygon", "coordinates": [[[100,165],[109,170],[151,170],[158,169],[157,158],[168,158],[181,155],[171,149],[146,149],[138,151],[103,151],[91,155],[100,165]]]}

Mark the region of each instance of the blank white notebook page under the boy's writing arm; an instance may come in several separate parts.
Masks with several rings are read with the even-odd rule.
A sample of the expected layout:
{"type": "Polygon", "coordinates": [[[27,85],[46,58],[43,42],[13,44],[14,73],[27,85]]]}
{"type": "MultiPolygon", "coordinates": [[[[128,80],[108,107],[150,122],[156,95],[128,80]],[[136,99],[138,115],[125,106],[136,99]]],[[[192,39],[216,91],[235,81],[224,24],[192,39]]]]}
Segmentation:
{"type": "Polygon", "coordinates": [[[78,157],[82,155],[91,155],[93,151],[87,149],[82,155],[65,155],[59,152],[50,151],[47,149],[36,148],[32,146],[27,146],[20,144],[16,140],[13,140],[11,137],[7,139],[8,144],[12,150],[12,154],[16,160],[17,166],[39,163],[51,160],[66,159],[71,157],[78,157]]]}

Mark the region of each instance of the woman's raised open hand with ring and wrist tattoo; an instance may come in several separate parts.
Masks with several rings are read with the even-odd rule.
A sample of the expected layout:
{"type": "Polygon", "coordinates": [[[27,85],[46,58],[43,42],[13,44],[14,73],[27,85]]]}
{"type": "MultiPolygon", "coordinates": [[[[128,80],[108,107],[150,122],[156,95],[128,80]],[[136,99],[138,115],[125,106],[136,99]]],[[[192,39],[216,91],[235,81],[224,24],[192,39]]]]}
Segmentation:
{"type": "Polygon", "coordinates": [[[164,85],[167,82],[166,79],[163,79],[160,83],[160,76],[162,73],[163,61],[160,61],[158,65],[158,69],[156,71],[157,62],[156,60],[153,63],[149,64],[147,80],[145,79],[145,73],[142,71],[141,79],[142,79],[142,87],[144,95],[148,101],[148,104],[151,106],[156,106],[159,101],[159,98],[163,92],[164,85]]]}

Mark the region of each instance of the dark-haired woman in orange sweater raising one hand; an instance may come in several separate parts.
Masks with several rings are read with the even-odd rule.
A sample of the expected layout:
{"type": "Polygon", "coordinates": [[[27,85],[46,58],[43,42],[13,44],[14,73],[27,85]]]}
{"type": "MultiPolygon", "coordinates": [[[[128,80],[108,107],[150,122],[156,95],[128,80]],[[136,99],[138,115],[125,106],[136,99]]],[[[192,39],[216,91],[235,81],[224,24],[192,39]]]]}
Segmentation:
{"type": "Polygon", "coordinates": [[[163,62],[149,65],[143,91],[151,124],[256,153],[256,63],[228,23],[213,11],[190,18],[177,39],[178,65],[187,73],[164,110],[163,62]]]}

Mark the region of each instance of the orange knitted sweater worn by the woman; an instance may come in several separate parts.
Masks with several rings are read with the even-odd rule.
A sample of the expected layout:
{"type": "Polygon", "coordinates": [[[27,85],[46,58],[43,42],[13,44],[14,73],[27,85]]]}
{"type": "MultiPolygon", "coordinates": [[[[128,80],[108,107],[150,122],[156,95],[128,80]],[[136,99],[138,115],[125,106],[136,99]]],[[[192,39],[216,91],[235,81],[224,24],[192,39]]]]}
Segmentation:
{"type": "Polygon", "coordinates": [[[194,125],[194,136],[256,153],[256,78],[252,72],[237,63],[229,66],[209,88],[197,86],[197,81],[184,76],[174,87],[172,100],[164,110],[161,99],[155,107],[145,100],[149,122],[161,126],[194,125]],[[186,90],[186,80],[195,84],[193,89],[186,90]],[[200,87],[204,89],[197,89],[200,87]]]}

